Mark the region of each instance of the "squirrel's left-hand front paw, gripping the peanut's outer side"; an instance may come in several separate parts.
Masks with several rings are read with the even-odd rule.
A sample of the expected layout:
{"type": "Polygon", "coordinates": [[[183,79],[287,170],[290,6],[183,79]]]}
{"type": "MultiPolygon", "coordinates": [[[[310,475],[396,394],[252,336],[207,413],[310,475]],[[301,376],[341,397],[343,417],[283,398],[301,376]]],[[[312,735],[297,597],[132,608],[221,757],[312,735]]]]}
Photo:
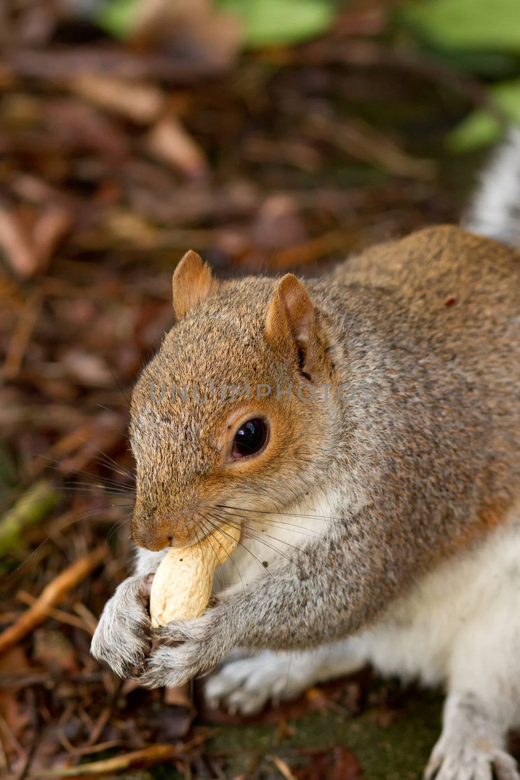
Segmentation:
{"type": "Polygon", "coordinates": [[[106,661],[119,677],[129,677],[150,652],[147,599],[152,575],[133,576],[121,583],[107,601],[92,637],[90,652],[106,661]]]}

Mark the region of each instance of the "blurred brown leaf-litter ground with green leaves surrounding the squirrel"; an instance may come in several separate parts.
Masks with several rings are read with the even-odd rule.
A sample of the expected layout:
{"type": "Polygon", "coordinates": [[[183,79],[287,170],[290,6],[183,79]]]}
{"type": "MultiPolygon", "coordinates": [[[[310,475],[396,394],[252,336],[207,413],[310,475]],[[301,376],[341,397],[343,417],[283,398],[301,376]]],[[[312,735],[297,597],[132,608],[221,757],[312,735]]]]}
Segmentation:
{"type": "Polygon", "coordinates": [[[176,262],[315,275],[456,222],[520,121],[518,0],[3,0],[0,48],[0,774],[420,778],[436,693],[364,672],[233,718],[90,637],[176,262]]]}

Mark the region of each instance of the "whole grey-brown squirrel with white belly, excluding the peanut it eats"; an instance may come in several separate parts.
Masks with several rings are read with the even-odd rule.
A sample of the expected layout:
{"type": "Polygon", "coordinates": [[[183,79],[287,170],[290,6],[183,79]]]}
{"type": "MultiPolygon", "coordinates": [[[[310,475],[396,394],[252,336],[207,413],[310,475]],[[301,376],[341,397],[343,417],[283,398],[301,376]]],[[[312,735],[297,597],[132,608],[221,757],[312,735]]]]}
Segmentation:
{"type": "Polygon", "coordinates": [[[447,688],[425,778],[519,780],[519,206],[520,130],[462,228],[306,280],[183,257],[133,388],[135,571],[95,658],[149,687],[224,659],[204,695],[243,714],[370,662],[447,688]],[[212,605],[150,651],[157,566],[222,523],[242,535],[212,605]]]}

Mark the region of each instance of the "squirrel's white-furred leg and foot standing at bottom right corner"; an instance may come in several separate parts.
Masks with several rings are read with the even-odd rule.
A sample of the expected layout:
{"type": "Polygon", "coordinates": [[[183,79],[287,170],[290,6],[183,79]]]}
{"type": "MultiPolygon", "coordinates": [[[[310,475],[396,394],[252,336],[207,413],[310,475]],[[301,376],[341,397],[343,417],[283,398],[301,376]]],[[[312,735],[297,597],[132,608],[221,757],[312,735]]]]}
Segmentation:
{"type": "Polygon", "coordinates": [[[506,747],[508,730],[520,722],[518,577],[512,574],[455,640],[444,726],[426,780],[520,780],[506,747]]]}

